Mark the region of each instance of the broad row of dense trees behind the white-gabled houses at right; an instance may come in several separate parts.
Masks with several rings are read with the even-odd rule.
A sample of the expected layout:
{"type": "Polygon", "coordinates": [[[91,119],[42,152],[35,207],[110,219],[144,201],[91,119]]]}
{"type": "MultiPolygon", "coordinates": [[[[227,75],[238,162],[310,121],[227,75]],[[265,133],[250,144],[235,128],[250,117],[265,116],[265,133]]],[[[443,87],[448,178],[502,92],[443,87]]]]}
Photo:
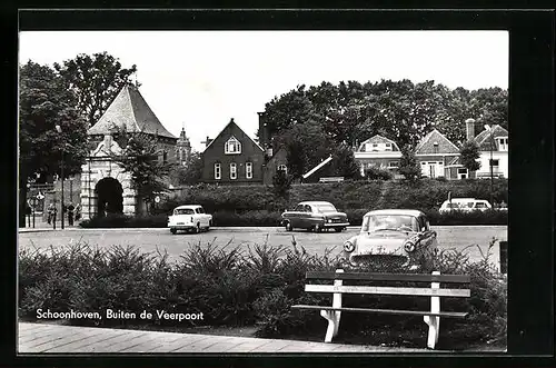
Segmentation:
{"type": "Polygon", "coordinates": [[[409,153],[436,128],[463,147],[467,118],[476,119],[477,127],[488,123],[507,129],[507,90],[502,88],[469,91],[407,79],[322,82],[309,88],[298,86],[274,98],[266,105],[265,119],[275,151],[286,148],[294,177],[300,177],[329,155],[347,160],[337,165],[337,175],[347,176],[353,170],[341,172],[341,168],[353,167],[353,158],[341,152],[375,135],[399,147],[407,146],[405,151],[409,153]]]}

